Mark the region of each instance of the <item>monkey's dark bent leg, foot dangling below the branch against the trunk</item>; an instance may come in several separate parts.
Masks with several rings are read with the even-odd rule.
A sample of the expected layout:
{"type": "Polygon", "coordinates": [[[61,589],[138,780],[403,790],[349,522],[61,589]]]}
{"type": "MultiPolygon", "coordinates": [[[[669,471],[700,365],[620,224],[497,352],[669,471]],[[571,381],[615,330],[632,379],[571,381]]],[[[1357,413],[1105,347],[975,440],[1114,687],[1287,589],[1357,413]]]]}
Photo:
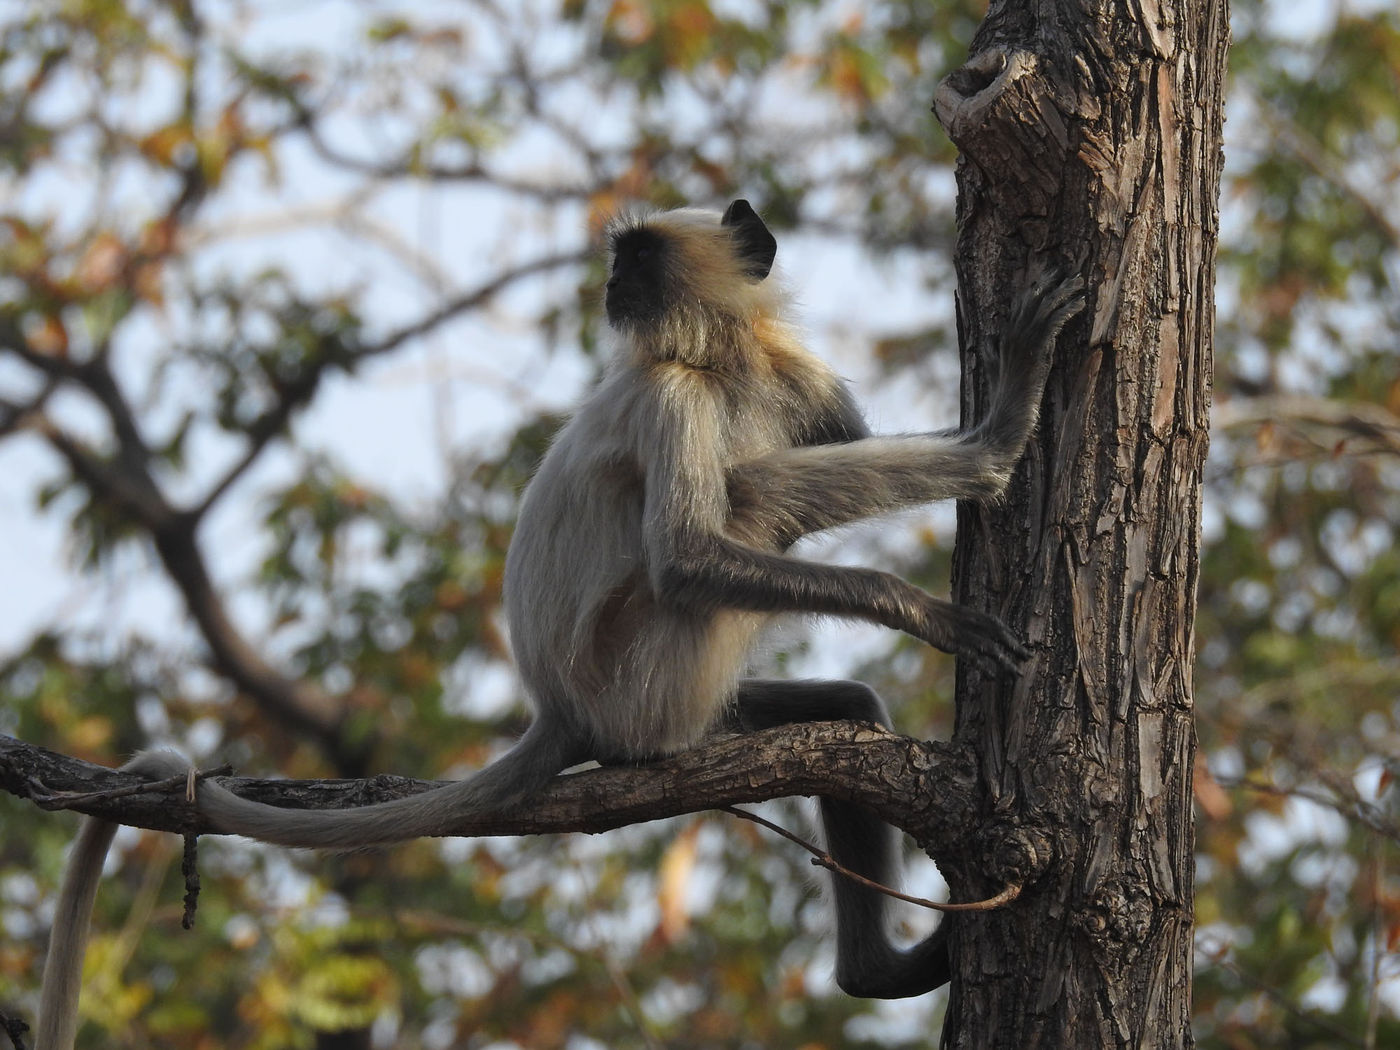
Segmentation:
{"type": "MultiPolygon", "coordinates": [[[[889,727],[889,714],[874,689],[861,682],[739,683],[735,718],[742,728],[764,729],[791,722],[841,718],[889,727]]],[[[899,871],[899,833],[851,802],[823,798],[826,848],[837,864],[890,885],[899,871]]],[[[932,991],[949,979],[948,918],[913,948],[896,948],[885,928],[889,902],[840,875],[832,876],[836,902],[836,983],[848,995],[907,998],[932,991]]]]}

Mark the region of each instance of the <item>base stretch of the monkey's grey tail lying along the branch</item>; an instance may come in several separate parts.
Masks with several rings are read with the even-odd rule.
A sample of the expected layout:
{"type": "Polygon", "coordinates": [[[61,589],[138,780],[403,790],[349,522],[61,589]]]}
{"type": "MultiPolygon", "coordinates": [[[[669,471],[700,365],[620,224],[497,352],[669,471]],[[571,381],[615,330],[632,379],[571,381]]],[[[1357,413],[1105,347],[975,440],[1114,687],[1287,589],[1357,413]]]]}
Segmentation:
{"type": "Polygon", "coordinates": [[[447,834],[458,818],[519,801],[588,757],[581,738],[536,718],[511,750],[482,771],[409,798],[353,809],[284,809],[204,781],[199,809],[225,834],[277,846],[358,850],[447,834]]]}

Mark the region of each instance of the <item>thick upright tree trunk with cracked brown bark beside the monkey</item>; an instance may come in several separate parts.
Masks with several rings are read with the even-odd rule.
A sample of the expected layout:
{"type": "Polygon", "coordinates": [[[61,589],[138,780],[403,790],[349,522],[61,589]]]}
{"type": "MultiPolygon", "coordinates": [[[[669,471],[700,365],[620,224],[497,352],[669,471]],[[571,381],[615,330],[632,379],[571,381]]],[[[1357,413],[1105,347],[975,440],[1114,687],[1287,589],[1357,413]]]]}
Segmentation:
{"type": "Polygon", "coordinates": [[[1208,440],[1226,6],[995,0],[939,88],[958,143],[965,417],[1037,266],[1082,273],[1004,505],[959,510],[955,594],[1029,638],[959,671],[984,843],[937,850],[959,917],[948,1047],[1191,1044],[1191,666],[1208,440]],[[1039,20],[1039,21],[1037,21],[1039,20]],[[995,850],[993,851],[995,853],[995,850]]]}

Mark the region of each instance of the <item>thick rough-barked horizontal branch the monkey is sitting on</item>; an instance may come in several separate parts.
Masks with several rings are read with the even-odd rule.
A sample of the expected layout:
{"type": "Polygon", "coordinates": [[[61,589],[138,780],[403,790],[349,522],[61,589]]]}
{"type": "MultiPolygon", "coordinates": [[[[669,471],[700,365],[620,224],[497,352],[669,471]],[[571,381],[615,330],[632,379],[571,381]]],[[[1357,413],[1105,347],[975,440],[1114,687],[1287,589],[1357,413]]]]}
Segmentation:
{"type": "MultiPolygon", "coordinates": [[[[899,736],[858,722],[812,722],[718,736],[683,755],[637,767],[601,767],[560,776],[547,791],[498,812],[463,819],[462,836],[596,833],[682,813],[788,795],[826,795],[868,806],[921,844],[946,846],[974,830],[969,798],[976,777],[967,756],[946,743],[899,736]]],[[[13,736],[0,736],[0,788],[45,808],[60,792],[127,788],[140,781],[13,736]]],[[[437,784],[409,777],[368,780],[223,781],[274,805],[340,809],[382,802],[437,784]]],[[[77,802],[77,799],[74,799],[77,802]]],[[[71,806],[134,827],[179,834],[213,829],[186,804],[183,783],[83,799],[71,806]]]]}

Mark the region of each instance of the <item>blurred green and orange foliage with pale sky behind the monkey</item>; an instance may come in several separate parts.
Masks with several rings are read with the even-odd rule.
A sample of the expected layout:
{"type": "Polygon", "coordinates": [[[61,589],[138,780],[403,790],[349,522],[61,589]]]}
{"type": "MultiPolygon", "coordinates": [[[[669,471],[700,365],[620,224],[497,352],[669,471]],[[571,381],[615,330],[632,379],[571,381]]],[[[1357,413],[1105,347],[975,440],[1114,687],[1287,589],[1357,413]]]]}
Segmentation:
{"type": "MultiPolygon", "coordinates": [[[[953,412],[981,3],[46,0],[0,15],[0,731],[459,776],[526,714],[521,486],[602,353],[633,202],[748,196],[881,428],[953,412]]],[[[1196,672],[1197,1039],[1400,1044],[1400,17],[1236,0],[1196,672]]],[[[952,515],[827,542],[946,588],[952,515]]],[[[946,735],[952,665],[792,627],[946,735]]],[[[769,806],[788,823],[795,806],[769,806]]],[[[32,1018],[71,816],[0,797],[32,1018]]],[[[802,855],[701,816],[308,857],[123,832],[84,1046],[928,1046],[848,1000],[802,855]]],[[[914,892],[935,892],[916,865],[914,892]]],[[[928,920],[910,916],[911,928],[928,920]]]]}

